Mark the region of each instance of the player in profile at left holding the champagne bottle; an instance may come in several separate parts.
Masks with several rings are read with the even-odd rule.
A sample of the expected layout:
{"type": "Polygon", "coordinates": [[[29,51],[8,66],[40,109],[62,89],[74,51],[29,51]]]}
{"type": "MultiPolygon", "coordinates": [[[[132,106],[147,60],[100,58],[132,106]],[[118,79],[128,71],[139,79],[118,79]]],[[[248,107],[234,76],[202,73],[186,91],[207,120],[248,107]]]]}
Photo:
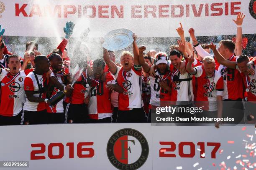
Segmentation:
{"type": "Polygon", "coordinates": [[[46,98],[46,90],[50,81],[60,90],[72,88],[71,85],[64,87],[56,80],[51,70],[49,70],[50,62],[45,55],[36,56],[34,62],[36,68],[27,75],[24,82],[26,96],[21,118],[21,124],[23,125],[47,122],[45,102],[49,103],[49,98],[46,98]]]}

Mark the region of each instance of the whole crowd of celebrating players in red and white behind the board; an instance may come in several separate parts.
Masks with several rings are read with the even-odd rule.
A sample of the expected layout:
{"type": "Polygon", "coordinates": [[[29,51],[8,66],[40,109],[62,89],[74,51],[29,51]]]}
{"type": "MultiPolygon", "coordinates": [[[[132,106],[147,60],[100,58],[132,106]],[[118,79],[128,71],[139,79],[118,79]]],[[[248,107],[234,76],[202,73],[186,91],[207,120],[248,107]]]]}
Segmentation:
{"type": "Polygon", "coordinates": [[[224,123],[254,123],[256,58],[242,54],[243,18],[240,13],[233,20],[236,43],[221,40],[218,49],[210,42],[200,45],[193,28],[189,29],[193,43],[186,42],[181,24],[176,29],[180,40],[170,46],[169,55],[145,53],[146,47],[138,47],[133,34],[133,54],[123,51],[120,64],[115,53],[105,48],[103,58],[87,60],[88,49],[82,41],[89,30],[80,37],[73,56],[67,56],[72,22],[66,24],[62,42],[47,56],[33,41],[26,44],[24,57],[14,55],[1,36],[0,125],[151,122],[156,107],[167,105],[203,108],[196,114],[183,111],[174,116],[234,117],[235,121],[224,123]],[[52,105],[51,97],[60,91],[65,97],[52,105]]]}

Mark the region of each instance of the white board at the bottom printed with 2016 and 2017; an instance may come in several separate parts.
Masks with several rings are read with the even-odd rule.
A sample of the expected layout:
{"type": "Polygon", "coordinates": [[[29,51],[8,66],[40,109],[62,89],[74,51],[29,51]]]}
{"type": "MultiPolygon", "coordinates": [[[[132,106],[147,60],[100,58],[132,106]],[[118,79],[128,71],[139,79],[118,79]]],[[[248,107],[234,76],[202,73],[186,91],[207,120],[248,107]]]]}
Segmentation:
{"type": "Polygon", "coordinates": [[[253,126],[1,126],[0,161],[28,161],[30,170],[255,168],[255,133],[253,126]]]}

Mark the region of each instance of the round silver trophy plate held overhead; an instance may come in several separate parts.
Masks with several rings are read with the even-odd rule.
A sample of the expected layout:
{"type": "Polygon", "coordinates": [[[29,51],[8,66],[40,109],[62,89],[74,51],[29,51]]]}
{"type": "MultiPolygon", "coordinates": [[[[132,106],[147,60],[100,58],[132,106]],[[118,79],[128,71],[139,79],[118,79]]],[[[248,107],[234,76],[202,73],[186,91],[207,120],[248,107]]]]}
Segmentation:
{"type": "Polygon", "coordinates": [[[133,43],[133,32],[127,29],[117,29],[104,36],[103,47],[109,51],[119,51],[133,43]]]}

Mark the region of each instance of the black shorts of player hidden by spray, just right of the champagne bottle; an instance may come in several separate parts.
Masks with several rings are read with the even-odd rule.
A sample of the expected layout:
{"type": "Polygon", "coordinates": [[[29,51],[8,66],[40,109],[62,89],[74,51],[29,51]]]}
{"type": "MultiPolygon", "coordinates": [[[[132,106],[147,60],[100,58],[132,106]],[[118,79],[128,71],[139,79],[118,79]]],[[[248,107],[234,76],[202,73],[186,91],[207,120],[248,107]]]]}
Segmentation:
{"type": "Polygon", "coordinates": [[[65,111],[64,123],[88,123],[88,108],[83,104],[63,103],[65,111]]]}

